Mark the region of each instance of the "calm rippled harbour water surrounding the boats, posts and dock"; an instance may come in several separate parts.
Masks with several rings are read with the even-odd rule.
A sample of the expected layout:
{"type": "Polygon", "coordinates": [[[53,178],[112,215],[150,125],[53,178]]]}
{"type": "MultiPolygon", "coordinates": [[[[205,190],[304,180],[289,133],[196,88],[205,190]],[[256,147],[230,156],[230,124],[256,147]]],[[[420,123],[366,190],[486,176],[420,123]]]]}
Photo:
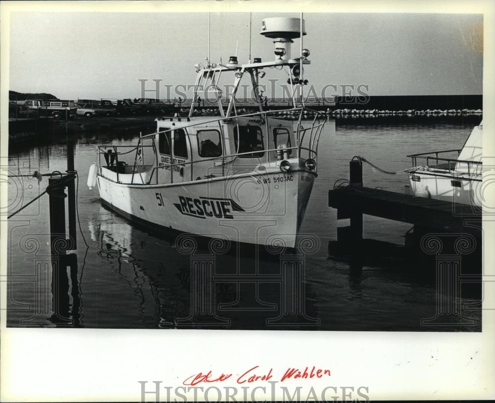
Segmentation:
{"type": "MultiPolygon", "coordinates": [[[[319,239],[316,253],[305,256],[304,312],[302,317],[269,321],[280,315],[280,284],[262,282],[254,298],[252,283],[235,283],[240,272],[275,276],[280,261],[254,259],[252,254],[218,255],[215,302],[221,305],[208,328],[481,331],[481,312],[464,309],[475,324],[421,326],[435,316],[435,265],[411,262],[407,256],[375,256],[356,261],[334,257],[329,242],[336,239],[337,214],[328,206],[328,190],[337,179],[348,178],[348,162],[361,155],[388,171],[410,167],[407,154],[461,148],[477,122],[449,120],[403,121],[329,120],[319,144],[319,177],[307,208],[302,233],[319,239]],[[412,123],[411,123],[412,122],[412,123]],[[433,122],[433,123],[432,123],[433,122]],[[364,262],[364,263],[363,263],[364,262]],[[257,270],[257,271],[256,271],[257,270]],[[229,277],[230,275],[230,277],[229,277]],[[229,281],[228,278],[231,280],[229,281]],[[214,323],[214,325],[212,324],[214,323]]],[[[69,134],[70,135],[70,134],[69,134]]],[[[103,208],[98,190],[86,186],[89,166],[96,161],[95,145],[111,142],[132,145],[136,131],[126,134],[75,136],[75,169],[79,171],[78,215],[86,248],[78,233],[77,272],[62,294],[52,299],[50,289],[49,211],[44,195],[8,222],[8,326],[84,326],[97,328],[185,328],[191,326],[191,255],[173,242],[129,224],[103,208]],[[57,305],[58,304],[58,305],[57,305]],[[58,307],[58,308],[57,308],[58,307]],[[52,311],[69,320],[55,320],[52,311]],[[51,319],[50,319],[51,317],[51,319]],[[71,321],[72,320],[72,321],[71,321]]],[[[65,171],[65,135],[49,135],[9,150],[9,174],[65,171]]],[[[389,176],[366,166],[366,186],[402,192],[405,175],[389,176]]],[[[43,192],[47,178],[10,178],[9,212],[43,192]]],[[[364,217],[364,237],[403,244],[411,225],[364,217]]],[[[201,251],[199,251],[201,252],[201,251]]],[[[241,251],[242,252],[242,251],[241,251]]],[[[477,293],[463,293],[461,303],[476,303],[477,293]]],[[[463,305],[462,305],[463,306],[463,305]]],[[[197,325],[192,325],[193,327],[197,325]]]]}

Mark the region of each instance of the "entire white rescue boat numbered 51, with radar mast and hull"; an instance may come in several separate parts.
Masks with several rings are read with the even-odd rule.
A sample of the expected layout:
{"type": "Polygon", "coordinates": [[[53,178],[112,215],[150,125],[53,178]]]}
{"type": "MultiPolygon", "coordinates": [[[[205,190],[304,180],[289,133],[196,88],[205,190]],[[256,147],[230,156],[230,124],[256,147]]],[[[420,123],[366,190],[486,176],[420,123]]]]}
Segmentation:
{"type": "Polygon", "coordinates": [[[302,18],[264,19],[260,34],[273,40],[275,60],[238,64],[231,57],[222,65],[207,58],[204,66],[195,65],[189,117],[156,119],[156,132],[127,149],[98,147],[105,163],[99,158],[99,165],[90,169],[88,185],[98,183],[102,203],[133,221],[173,232],[296,247],[317,177],[317,146],[325,122],[323,114],[297,105],[298,91],[307,84],[302,66],[310,64],[300,38],[303,23],[302,18]],[[291,58],[296,38],[300,56],[291,58]],[[282,111],[285,118],[280,111],[262,108],[257,86],[267,70],[284,70],[284,83],[289,76],[293,107],[282,111]],[[227,73],[235,80],[224,109],[219,79],[227,73]],[[241,115],[235,94],[244,75],[250,78],[258,111],[241,115]],[[218,96],[220,116],[194,116],[199,96],[218,96]],[[314,118],[303,121],[308,111],[314,118]],[[288,115],[296,119],[288,120],[288,115]]]}

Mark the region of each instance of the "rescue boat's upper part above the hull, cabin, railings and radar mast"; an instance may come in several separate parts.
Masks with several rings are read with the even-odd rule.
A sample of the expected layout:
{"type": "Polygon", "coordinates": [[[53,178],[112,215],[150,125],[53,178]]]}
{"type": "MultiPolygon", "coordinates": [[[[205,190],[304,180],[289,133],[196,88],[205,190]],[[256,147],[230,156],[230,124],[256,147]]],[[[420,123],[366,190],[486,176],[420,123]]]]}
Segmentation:
{"type": "MultiPolygon", "coordinates": [[[[237,56],[231,56],[228,63],[217,64],[210,62],[208,57],[204,65],[195,64],[197,78],[189,116],[156,119],[156,132],[140,137],[132,166],[118,161],[121,158],[119,154],[123,156],[127,152],[118,153],[114,147],[115,167],[107,155],[108,150],[104,152],[108,161],[107,166],[102,167],[101,175],[120,183],[168,184],[228,178],[250,174],[254,170],[257,173],[267,172],[268,168],[286,172],[291,164],[293,168],[315,170],[317,144],[325,117],[311,111],[314,116],[312,122],[302,123],[303,116],[309,110],[305,108],[302,96],[302,88],[308,84],[303,79],[303,66],[311,64],[309,50],[302,47],[304,21],[302,17],[266,18],[260,34],[271,39],[275,45],[274,60],[262,62],[261,58],[254,57],[245,64],[239,64],[237,56]],[[297,56],[291,56],[291,44],[297,38],[301,39],[300,51],[297,56]],[[266,74],[263,70],[270,68],[284,70],[289,77],[290,109],[263,109],[259,80],[266,74]],[[234,76],[234,86],[226,94],[228,104],[223,105],[219,85],[220,78],[225,77],[226,73],[234,76]],[[243,77],[250,81],[251,101],[259,112],[238,113],[236,93],[243,77]],[[216,100],[220,116],[193,116],[195,104],[200,98],[216,100]],[[300,106],[297,106],[298,102],[300,106]],[[284,112],[290,113],[289,119],[297,119],[297,114],[297,122],[273,117],[284,112]],[[152,147],[152,153],[146,147],[152,147]],[[144,158],[144,153],[148,158],[144,158]]],[[[143,101],[152,103],[153,100],[141,98],[138,104],[143,101]]]]}

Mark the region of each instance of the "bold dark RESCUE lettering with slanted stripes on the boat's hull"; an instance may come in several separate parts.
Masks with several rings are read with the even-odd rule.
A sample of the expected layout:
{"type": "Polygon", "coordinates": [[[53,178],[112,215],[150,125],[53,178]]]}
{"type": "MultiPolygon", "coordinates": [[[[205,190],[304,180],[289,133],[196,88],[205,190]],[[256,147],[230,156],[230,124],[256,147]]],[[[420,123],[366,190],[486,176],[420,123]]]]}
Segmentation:
{"type": "Polygon", "coordinates": [[[185,216],[206,219],[207,217],[234,219],[233,212],[244,210],[232,199],[220,199],[216,197],[191,197],[179,196],[179,203],[174,206],[185,216]]]}

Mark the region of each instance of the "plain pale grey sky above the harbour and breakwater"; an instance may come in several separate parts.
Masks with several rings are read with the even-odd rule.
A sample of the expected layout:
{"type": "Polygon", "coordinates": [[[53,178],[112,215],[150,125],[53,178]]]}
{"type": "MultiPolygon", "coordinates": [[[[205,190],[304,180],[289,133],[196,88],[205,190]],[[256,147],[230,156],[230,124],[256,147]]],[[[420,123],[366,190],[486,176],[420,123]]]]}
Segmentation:
{"type": "MultiPolygon", "coordinates": [[[[252,57],[263,61],[275,58],[271,40],[259,35],[261,20],[273,16],[299,15],[252,13],[252,57]]],[[[210,13],[212,62],[225,63],[236,47],[247,62],[249,17],[210,13]]],[[[370,95],[482,93],[482,14],[305,13],[304,20],[303,45],[311,51],[304,78],[316,92],[330,84],[337,92],[367,86],[370,95]]],[[[9,90],[134,98],[139,80],[149,80],[147,89],[162,80],[158,97],[166,98],[164,85],[194,84],[207,33],[207,13],[12,12],[9,90]]],[[[298,40],[292,46],[297,56],[298,40]]],[[[266,70],[265,80],[287,80],[266,70]]]]}

